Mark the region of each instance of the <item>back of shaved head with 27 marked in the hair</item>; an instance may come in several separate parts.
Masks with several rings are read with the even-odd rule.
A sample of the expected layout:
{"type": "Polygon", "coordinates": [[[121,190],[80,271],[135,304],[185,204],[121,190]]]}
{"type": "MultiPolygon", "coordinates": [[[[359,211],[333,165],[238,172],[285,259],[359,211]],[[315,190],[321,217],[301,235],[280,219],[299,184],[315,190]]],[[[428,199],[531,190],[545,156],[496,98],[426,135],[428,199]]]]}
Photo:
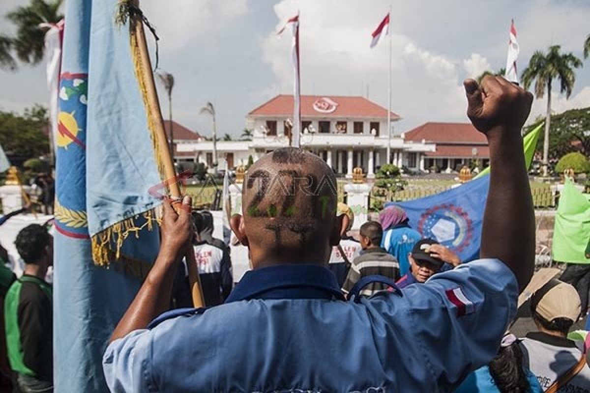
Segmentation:
{"type": "Polygon", "coordinates": [[[321,158],[281,148],[260,158],[248,172],[242,202],[249,239],[279,255],[329,236],[336,217],[337,186],[333,171],[321,158]]]}

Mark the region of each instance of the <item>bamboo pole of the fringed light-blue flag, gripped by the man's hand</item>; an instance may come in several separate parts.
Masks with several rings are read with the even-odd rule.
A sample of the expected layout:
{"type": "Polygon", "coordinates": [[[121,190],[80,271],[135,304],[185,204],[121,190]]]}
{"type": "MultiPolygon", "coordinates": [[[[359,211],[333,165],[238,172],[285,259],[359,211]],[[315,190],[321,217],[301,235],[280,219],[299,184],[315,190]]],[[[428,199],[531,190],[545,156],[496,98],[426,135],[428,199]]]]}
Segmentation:
{"type": "MultiPolygon", "coordinates": [[[[135,5],[139,6],[139,1],[135,0],[135,5]]],[[[176,170],[174,162],[172,161],[171,152],[168,146],[168,138],[164,130],[164,122],[162,119],[162,111],[160,110],[160,102],[158,100],[158,93],[156,91],[156,84],[153,80],[152,62],[150,61],[148,45],[146,44],[145,32],[143,30],[143,22],[135,22],[135,35],[137,45],[139,47],[139,54],[142,65],[143,75],[146,76],[146,90],[148,92],[148,115],[152,117],[152,124],[155,124],[156,140],[160,152],[160,160],[162,160],[164,168],[164,178],[167,179],[170,195],[173,199],[181,198],[181,190],[176,181],[176,170]],[[173,179],[173,180],[172,180],[173,179]]],[[[191,285],[192,303],[196,308],[204,307],[203,294],[201,290],[201,280],[199,279],[198,267],[196,265],[195,253],[191,249],[185,254],[186,269],[188,270],[189,283],[191,285]]]]}

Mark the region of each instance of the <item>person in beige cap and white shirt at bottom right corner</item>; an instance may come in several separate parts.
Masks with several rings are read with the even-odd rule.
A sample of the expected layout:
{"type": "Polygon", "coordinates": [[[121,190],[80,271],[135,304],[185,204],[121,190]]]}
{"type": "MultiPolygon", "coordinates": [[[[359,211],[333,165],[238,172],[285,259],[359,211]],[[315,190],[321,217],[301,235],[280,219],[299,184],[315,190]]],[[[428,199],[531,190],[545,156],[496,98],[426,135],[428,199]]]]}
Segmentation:
{"type": "Polygon", "coordinates": [[[580,298],[573,286],[557,279],[537,290],[530,300],[539,331],[522,339],[523,364],[535,374],[543,391],[559,381],[559,391],[590,391],[590,368],[584,341],[567,338],[580,315],[580,298]],[[567,378],[573,374],[573,377],[567,378]]]}

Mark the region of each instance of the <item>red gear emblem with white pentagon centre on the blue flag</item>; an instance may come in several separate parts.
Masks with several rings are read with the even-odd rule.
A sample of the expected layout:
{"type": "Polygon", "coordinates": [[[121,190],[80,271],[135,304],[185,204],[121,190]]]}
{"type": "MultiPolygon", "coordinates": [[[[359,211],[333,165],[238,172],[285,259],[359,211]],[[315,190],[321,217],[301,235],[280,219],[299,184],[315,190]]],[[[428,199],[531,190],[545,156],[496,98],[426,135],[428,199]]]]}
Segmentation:
{"type": "Polygon", "coordinates": [[[473,239],[473,221],[454,204],[438,204],[421,214],[418,232],[455,252],[463,251],[473,239]]]}

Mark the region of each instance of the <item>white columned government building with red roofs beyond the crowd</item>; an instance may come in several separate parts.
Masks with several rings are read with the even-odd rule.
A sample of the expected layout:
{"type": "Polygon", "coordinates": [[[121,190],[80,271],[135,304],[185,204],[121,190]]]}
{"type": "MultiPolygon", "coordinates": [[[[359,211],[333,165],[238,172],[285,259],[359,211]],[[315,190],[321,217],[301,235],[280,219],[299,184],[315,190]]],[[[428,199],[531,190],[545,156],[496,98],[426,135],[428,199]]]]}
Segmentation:
{"type": "MultiPolygon", "coordinates": [[[[219,169],[256,161],[270,151],[289,146],[293,118],[293,95],[277,95],[254,108],[246,117],[251,141],[218,141],[219,169]]],[[[400,120],[391,113],[392,126],[400,120]]],[[[169,122],[166,122],[168,131],[169,122]]],[[[212,167],[213,143],[173,123],[175,160],[201,162],[212,167]]],[[[393,128],[393,127],[392,127],[393,128]]],[[[387,163],[387,110],[364,97],[327,95],[301,96],[301,147],[316,153],[340,176],[351,177],[355,167],[371,179],[375,170],[387,163]]],[[[425,123],[407,133],[391,136],[391,162],[414,171],[432,166],[457,170],[470,159],[489,158],[486,138],[471,124],[425,123]],[[444,129],[444,132],[441,132],[444,129]]]]}

